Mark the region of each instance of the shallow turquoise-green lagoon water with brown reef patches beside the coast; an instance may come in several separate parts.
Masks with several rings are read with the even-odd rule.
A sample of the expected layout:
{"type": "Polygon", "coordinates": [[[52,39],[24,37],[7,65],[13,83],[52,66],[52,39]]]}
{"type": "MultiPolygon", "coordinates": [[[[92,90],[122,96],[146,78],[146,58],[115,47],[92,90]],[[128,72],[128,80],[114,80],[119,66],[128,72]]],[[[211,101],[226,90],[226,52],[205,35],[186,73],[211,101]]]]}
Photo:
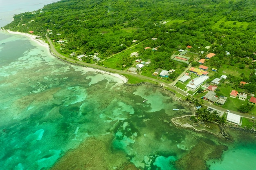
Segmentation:
{"type": "Polygon", "coordinates": [[[189,167],[184,162],[203,167],[208,159],[210,170],[229,170],[244,166],[230,163],[237,159],[252,167],[249,157],[256,154],[253,138],[241,145],[175,127],[171,118],[190,111],[168,91],[127,86],[120,77],[67,64],[29,38],[3,31],[0,91],[2,170],[181,170],[189,167]],[[197,160],[198,152],[211,156],[197,160]]]}

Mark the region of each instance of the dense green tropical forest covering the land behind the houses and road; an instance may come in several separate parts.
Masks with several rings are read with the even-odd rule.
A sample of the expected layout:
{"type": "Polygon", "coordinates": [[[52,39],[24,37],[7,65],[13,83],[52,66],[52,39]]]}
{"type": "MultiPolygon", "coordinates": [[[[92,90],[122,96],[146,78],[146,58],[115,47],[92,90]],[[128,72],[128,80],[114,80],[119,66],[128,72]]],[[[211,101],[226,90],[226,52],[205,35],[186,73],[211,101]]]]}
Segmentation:
{"type": "MultiPolygon", "coordinates": [[[[252,64],[256,60],[254,0],[61,0],[15,15],[4,29],[34,31],[41,36],[48,33],[52,40],[65,41],[63,54],[99,53],[101,58],[123,51],[137,40],[144,46],[159,46],[155,52],[140,51],[141,58],[150,59],[154,68],[176,68],[177,62],[170,56],[187,45],[196,53],[211,46],[207,52],[216,57],[209,61],[210,66],[240,63],[241,67],[256,67],[252,64]],[[157,40],[149,41],[151,38],[157,40]]],[[[256,82],[255,76],[250,78],[256,82]]]]}

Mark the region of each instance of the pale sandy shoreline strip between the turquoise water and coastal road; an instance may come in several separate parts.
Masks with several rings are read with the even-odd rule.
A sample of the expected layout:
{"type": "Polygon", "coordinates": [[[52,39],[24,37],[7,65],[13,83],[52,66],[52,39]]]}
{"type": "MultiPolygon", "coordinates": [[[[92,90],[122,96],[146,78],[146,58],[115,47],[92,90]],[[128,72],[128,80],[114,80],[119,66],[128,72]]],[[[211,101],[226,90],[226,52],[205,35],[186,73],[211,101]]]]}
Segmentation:
{"type": "Polygon", "coordinates": [[[45,42],[44,40],[41,40],[40,38],[37,39],[38,36],[36,36],[36,35],[32,35],[32,34],[29,34],[29,33],[15,32],[15,31],[10,31],[10,30],[5,30],[5,29],[2,29],[2,31],[7,31],[10,34],[24,35],[26,37],[29,37],[31,41],[36,42],[40,46],[46,47],[49,50],[49,52],[52,56],[57,57],[59,60],[62,60],[63,62],[66,62],[68,64],[72,64],[72,65],[75,65],[75,66],[81,66],[83,68],[90,68],[90,69],[92,69],[92,71],[94,71],[96,73],[112,75],[112,76],[117,77],[118,79],[120,79],[120,82],[123,83],[123,84],[127,83],[127,81],[128,81],[128,79],[126,77],[124,77],[123,75],[117,74],[117,73],[110,73],[110,72],[103,71],[103,70],[100,70],[100,69],[97,69],[97,68],[84,66],[84,65],[81,65],[81,64],[78,64],[78,63],[67,62],[67,61],[63,60],[61,57],[56,56],[52,52],[49,44],[47,44],[47,42],[45,42]]]}

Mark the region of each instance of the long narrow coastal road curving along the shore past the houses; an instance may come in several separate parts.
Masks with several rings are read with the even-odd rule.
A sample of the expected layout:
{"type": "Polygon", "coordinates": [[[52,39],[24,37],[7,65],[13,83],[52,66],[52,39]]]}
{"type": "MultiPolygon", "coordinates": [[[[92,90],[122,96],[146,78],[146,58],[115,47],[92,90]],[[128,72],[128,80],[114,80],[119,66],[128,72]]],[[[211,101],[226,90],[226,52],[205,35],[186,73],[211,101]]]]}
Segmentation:
{"type": "MultiPolygon", "coordinates": [[[[133,73],[130,73],[130,72],[126,72],[126,71],[121,71],[121,70],[116,70],[116,69],[113,69],[113,68],[106,68],[104,66],[99,66],[99,65],[95,65],[95,64],[90,64],[90,63],[85,63],[85,62],[81,62],[81,61],[77,61],[77,60],[73,60],[69,57],[65,57],[64,55],[61,55],[60,53],[58,53],[58,51],[56,51],[56,49],[54,48],[54,45],[52,44],[52,41],[49,39],[49,37],[47,37],[47,40],[49,42],[49,45],[50,45],[50,48],[52,50],[52,52],[57,56],[57,57],[60,57],[64,60],[66,60],[67,62],[72,62],[72,63],[77,63],[77,64],[81,64],[82,66],[88,66],[88,67],[91,67],[91,68],[97,68],[97,69],[101,69],[101,70],[104,70],[104,71],[109,71],[109,72],[112,72],[112,73],[118,73],[118,74],[121,74],[121,75],[132,75],[134,77],[137,77],[137,78],[140,78],[140,79],[148,79],[150,81],[154,81],[154,82],[157,82],[159,84],[162,84],[164,82],[160,81],[159,79],[155,79],[155,78],[151,78],[151,77],[147,77],[147,76],[144,76],[144,75],[139,75],[139,74],[133,74],[133,73]]],[[[178,79],[178,78],[177,78],[178,79]]],[[[176,79],[176,80],[177,80],[176,79]]],[[[175,80],[175,81],[176,81],[175,80]]],[[[177,81],[176,81],[177,82],[177,81]]],[[[180,93],[184,96],[187,95],[187,93],[185,93],[184,91],[176,88],[173,86],[173,84],[165,84],[164,86],[176,91],[177,93],[180,93]]],[[[218,106],[215,106],[215,105],[212,105],[211,103],[204,103],[204,106],[207,106],[207,107],[211,107],[211,108],[214,108],[216,110],[220,110],[222,112],[227,112],[227,109],[224,109],[224,108],[221,108],[221,107],[218,107],[218,106]]],[[[230,110],[231,113],[234,113],[236,115],[240,115],[240,116],[243,116],[243,117],[247,117],[247,118],[251,118],[252,119],[252,116],[254,115],[249,115],[249,114],[244,114],[244,113],[239,113],[239,112],[236,112],[236,111],[232,111],[230,110]]]]}

